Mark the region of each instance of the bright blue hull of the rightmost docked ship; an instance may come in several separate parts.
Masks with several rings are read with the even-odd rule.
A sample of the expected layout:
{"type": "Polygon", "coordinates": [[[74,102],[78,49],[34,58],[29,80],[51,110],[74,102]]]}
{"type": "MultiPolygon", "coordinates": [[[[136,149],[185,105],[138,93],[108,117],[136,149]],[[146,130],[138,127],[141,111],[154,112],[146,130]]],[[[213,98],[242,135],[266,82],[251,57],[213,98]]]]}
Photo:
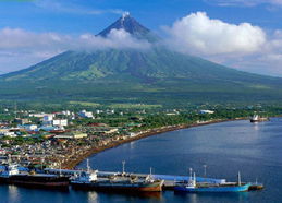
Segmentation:
{"type": "Polygon", "coordinates": [[[174,188],[175,191],[183,192],[245,192],[248,191],[250,184],[244,186],[219,186],[219,187],[196,187],[196,188],[187,188],[185,186],[176,186],[174,188]]]}

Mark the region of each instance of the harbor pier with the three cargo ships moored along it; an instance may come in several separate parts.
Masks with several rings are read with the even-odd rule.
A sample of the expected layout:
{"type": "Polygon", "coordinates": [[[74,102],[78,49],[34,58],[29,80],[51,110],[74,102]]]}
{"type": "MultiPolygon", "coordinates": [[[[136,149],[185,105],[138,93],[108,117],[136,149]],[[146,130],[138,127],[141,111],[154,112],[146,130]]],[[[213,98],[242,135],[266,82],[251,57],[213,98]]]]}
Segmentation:
{"type": "Polygon", "coordinates": [[[86,169],[54,169],[46,168],[36,172],[16,164],[0,167],[0,183],[25,187],[65,188],[117,191],[117,192],[161,192],[173,190],[176,192],[245,192],[263,189],[262,183],[242,182],[238,172],[236,182],[225,179],[196,177],[192,168],[189,176],[154,175],[125,172],[125,162],[122,162],[122,172],[93,170],[87,159],[86,169]],[[20,170],[21,168],[21,170],[20,170]]]}

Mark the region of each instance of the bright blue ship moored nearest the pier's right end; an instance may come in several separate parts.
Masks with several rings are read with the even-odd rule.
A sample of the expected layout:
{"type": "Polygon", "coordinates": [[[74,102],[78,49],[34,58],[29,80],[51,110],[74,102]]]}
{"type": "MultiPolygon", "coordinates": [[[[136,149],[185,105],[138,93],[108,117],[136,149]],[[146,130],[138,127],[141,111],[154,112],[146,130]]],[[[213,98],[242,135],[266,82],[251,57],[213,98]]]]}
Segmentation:
{"type": "Polygon", "coordinates": [[[197,183],[196,176],[194,172],[194,177],[189,177],[187,183],[180,183],[174,187],[174,191],[181,192],[245,192],[248,191],[250,183],[242,183],[240,174],[238,174],[238,182],[225,182],[225,183],[197,183]]]}

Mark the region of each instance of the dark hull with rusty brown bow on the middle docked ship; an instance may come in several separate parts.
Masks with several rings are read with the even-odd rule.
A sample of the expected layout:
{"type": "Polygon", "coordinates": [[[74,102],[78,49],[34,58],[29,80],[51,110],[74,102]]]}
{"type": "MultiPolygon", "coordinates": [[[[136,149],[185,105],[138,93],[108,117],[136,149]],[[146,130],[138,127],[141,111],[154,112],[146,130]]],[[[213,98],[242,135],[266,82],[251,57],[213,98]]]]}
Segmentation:
{"type": "Polygon", "coordinates": [[[71,182],[74,189],[99,190],[99,191],[119,191],[119,192],[161,192],[163,181],[152,183],[79,183],[71,182]]]}

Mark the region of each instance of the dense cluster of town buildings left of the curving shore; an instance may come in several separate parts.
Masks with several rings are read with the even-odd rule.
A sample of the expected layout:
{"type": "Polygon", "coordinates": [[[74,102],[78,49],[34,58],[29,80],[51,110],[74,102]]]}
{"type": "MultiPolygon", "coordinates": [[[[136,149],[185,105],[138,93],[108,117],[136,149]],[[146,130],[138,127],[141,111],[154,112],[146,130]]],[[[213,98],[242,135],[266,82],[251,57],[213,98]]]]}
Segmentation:
{"type": "Polygon", "coordinates": [[[11,121],[0,121],[0,162],[9,157],[23,166],[68,167],[68,163],[74,163],[93,147],[130,138],[122,127],[97,122],[75,124],[77,120],[91,121],[103,112],[114,114],[114,110],[25,111],[11,121]]]}

